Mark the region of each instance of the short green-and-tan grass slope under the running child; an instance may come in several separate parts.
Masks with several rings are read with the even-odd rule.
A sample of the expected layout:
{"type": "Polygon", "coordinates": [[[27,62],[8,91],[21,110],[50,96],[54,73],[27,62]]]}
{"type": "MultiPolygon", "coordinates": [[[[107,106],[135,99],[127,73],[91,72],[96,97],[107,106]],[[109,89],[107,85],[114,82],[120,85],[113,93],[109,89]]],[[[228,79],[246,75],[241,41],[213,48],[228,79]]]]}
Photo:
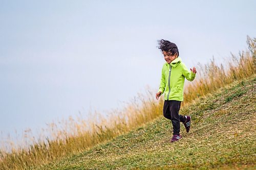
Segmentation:
{"type": "Polygon", "coordinates": [[[163,116],[80,153],[31,169],[255,169],[256,76],[234,82],[183,107],[189,133],[169,143],[172,125],[163,116]]]}

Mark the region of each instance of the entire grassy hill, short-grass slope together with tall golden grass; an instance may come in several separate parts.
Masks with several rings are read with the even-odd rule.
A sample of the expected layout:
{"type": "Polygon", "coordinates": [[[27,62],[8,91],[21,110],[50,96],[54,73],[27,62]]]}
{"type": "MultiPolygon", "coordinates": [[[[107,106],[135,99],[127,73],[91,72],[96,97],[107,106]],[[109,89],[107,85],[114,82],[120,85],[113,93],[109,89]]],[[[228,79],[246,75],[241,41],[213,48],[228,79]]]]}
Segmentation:
{"type": "Polygon", "coordinates": [[[182,126],[181,141],[169,143],[163,98],[156,101],[156,89],[146,88],[106,118],[96,111],[69,117],[48,124],[41,138],[25,131],[29,145],[10,139],[0,148],[0,169],[254,169],[256,38],[246,42],[247,50],[225,62],[198,64],[181,110],[193,116],[193,127],[186,134],[182,126]]]}

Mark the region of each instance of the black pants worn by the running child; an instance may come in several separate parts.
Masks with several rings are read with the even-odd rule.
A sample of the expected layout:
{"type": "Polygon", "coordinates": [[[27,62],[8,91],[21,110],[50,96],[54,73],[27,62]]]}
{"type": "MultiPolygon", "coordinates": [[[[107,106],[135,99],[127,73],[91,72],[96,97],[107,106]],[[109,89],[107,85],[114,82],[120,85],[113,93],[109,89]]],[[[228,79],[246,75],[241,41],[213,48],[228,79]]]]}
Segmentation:
{"type": "Polygon", "coordinates": [[[164,101],[163,116],[172,120],[173,134],[180,134],[180,122],[184,123],[186,117],[179,114],[181,101],[164,101]]]}

